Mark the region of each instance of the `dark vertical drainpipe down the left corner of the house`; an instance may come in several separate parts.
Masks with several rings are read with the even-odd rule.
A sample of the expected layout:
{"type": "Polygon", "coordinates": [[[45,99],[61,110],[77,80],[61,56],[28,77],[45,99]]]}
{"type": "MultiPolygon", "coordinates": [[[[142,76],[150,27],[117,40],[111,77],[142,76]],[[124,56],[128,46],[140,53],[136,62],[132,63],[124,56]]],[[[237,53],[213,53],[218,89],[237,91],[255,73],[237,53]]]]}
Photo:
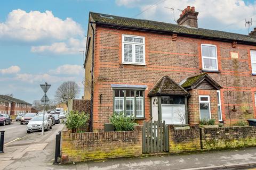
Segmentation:
{"type": "Polygon", "coordinates": [[[91,113],[90,113],[90,132],[93,131],[93,69],[94,69],[94,36],[95,36],[95,30],[93,28],[93,25],[91,23],[91,28],[93,31],[93,40],[92,40],[92,72],[91,72],[91,77],[92,77],[92,85],[91,85],[91,113]]]}

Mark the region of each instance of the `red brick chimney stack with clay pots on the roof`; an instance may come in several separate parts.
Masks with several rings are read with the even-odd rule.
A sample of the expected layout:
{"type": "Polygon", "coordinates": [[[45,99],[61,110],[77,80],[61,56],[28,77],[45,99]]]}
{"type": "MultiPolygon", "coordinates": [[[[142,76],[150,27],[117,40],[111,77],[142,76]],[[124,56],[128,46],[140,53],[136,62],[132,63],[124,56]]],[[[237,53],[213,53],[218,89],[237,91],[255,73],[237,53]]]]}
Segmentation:
{"type": "Polygon", "coordinates": [[[197,28],[197,15],[198,12],[195,11],[195,7],[187,6],[181,14],[180,18],[177,20],[179,25],[189,26],[193,28],[197,28]]]}

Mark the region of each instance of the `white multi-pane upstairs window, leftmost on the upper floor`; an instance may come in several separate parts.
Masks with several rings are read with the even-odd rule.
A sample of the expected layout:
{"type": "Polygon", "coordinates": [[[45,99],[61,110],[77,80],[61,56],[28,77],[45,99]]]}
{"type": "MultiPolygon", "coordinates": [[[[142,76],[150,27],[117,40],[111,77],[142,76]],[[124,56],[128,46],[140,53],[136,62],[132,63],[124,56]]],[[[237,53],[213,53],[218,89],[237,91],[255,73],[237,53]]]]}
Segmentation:
{"type": "Polygon", "coordinates": [[[145,65],[145,38],[123,35],[122,39],[123,63],[145,65]]]}

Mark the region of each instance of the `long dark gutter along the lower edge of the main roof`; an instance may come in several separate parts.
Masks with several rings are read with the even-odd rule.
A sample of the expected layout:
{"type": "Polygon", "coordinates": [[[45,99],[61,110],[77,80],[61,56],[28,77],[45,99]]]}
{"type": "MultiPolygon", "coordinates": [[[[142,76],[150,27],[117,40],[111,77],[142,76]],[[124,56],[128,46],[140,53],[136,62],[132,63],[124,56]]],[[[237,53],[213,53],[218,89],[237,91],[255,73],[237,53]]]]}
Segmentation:
{"type": "Polygon", "coordinates": [[[194,37],[194,38],[200,38],[200,39],[210,39],[210,40],[222,40],[226,41],[229,43],[232,43],[233,41],[237,41],[241,44],[246,44],[246,45],[256,45],[255,43],[252,43],[250,41],[243,41],[243,40],[234,40],[234,39],[227,39],[227,38],[216,38],[216,37],[207,37],[207,36],[199,36],[199,35],[194,35],[194,34],[189,34],[189,33],[182,33],[182,32],[177,32],[177,31],[165,31],[165,30],[157,30],[157,29],[149,29],[149,28],[141,28],[141,27],[131,27],[131,26],[126,26],[126,25],[118,25],[118,24],[111,24],[111,23],[103,23],[103,22],[92,22],[90,23],[95,23],[101,26],[105,27],[110,27],[110,28],[120,28],[122,29],[129,29],[129,30],[135,30],[135,31],[148,31],[148,32],[154,32],[154,33],[165,33],[165,34],[172,34],[172,33],[177,33],[177,35],[181,36],[187,36],[187,37],[194,37]]]}

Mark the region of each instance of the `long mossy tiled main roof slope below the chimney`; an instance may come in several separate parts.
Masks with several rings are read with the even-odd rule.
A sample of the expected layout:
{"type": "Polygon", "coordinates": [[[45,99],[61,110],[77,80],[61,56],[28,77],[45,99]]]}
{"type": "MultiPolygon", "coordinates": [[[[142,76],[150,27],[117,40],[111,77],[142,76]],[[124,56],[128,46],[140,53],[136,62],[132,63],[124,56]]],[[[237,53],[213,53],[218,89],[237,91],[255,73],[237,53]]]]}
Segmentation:
{"type": "Polygon", "coordinates": [[[252,36],[249,36],[249,35],[242,35],[238,33],[209,30],[209,29],[202,29],[202,28],[189,28],[182,25],[178,25],[178,24],[142,20],[142,19],[133,19],[133,18],[126,18],[121,16],[100,14],[100,13],[94,13],[94,12],[90,12],[90,14],[94,22],[102,23],[102,24],[113,24],[113,25],[116,25],[117,27],[123,25],[124,27],[175,32],[175,33],[181,33],[181,34],[191,35],[191,36],[241,41],[241,42],[250,43],[250,44],[255,43],[256,45],[256,38],[253,38],[252,36]]]}

